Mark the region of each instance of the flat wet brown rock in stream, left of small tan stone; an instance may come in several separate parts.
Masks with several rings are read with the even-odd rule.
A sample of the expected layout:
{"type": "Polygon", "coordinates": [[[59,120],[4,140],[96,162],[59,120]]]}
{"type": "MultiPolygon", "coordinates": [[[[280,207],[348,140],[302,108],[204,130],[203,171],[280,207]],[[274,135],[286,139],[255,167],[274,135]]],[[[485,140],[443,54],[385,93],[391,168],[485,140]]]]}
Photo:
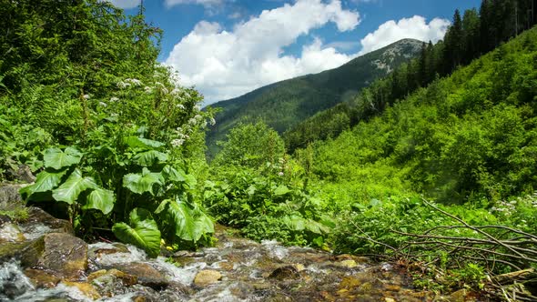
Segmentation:
{"type": "Polygon", "coordinates": [[[169,285],[167,278],[155,267],[151,267],[147,263],[118,263],[114,267],[128,275],[136,276],[138,284],[146,287],[160,290],[169,285]]]}

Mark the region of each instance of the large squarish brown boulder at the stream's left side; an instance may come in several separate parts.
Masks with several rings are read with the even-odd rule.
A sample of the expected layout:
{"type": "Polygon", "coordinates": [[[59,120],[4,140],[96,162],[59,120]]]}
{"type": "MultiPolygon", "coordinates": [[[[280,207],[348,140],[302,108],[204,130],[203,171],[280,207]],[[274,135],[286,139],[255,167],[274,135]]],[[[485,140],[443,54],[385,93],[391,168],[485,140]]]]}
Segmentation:
{"type": "Polygon", "coordinates": [[[87,269],[87,244],[84,240],[66,233],[51,233],[44,236],[44,242],[38,267],[55,271],[68,280],[84,276],[87,269]]]}

